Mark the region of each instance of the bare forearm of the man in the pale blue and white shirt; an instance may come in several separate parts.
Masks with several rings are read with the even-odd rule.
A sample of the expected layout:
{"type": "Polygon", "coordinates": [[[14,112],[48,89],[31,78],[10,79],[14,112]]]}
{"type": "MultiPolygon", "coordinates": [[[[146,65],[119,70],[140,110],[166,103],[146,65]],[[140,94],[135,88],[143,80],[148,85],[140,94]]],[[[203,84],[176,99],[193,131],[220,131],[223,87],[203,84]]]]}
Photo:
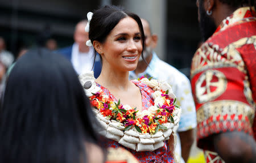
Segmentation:
{"type": "Polygon", "coordinates": [[[192,147],[195,136],[193,129],[188,131],[179,132],[180,142],[181,142],[181,156],[185,162],[188,161],[190,149],[192,147]]]}

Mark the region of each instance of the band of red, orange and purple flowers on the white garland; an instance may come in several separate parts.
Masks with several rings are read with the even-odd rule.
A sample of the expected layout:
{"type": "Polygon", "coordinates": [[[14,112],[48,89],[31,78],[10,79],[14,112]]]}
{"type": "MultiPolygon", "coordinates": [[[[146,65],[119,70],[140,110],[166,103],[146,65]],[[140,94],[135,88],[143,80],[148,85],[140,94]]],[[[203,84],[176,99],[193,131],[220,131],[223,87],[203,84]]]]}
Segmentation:
{"type": "MultiPolygon", "coordinates": [[[[144,76],[139,78],[142,82],[150,82],[151,79],[147,79],[144,76]],[[143,80],[142,80],[143,79],[143,80]]],[[[152,80],[154,82],[154,80],[152,80]]],[[[153,83],[150,82],[150,83],[153,83]]],[[[131,108],[129,105],[120,104],[120,100],[115,102],[109,96],[104,95],[104,92],[100,90],[97,93],[93,93],[93,96],[89,97],[91,105],[97,108],[104,117],[109,120],[115,120],[121,122],[126,130],[132,127],[143,134],[156,134],[159,130],[167,130],[163,123],[170,121],[174,123],[172,116],[175,108],[179,108],[175,104],[176,98],[170,99],[167,91],[155,91],[153,93],[154,106],[148,108],[148,110],[139,111],[136,108],[131,108]]]]}

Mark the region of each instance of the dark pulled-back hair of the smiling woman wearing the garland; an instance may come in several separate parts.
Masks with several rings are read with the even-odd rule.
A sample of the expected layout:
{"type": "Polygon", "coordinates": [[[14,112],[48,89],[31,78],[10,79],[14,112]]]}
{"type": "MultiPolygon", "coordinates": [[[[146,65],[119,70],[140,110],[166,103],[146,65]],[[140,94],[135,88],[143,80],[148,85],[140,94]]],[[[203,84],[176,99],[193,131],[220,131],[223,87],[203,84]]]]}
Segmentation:
{"type": "MultiPolygon", "coordinates": [[[[123,10],[121,7],[117,6],[109,6],[106,5],[96,11],[93,12],[92,20],[90,20],[90,28],[89,28],[89,39],[93,43],[93,41],[97,40],[103,43],[106,40],[106,37],[112,31],[112,29],[117,25],[121,19],[123,18],[133,18],[139,25],[139,31],[141,32],[142,39],[142,49],[144,49],[144,31],[141,23],[141,18],[138,15],[123,10]]],[[[95,52],[95,51],[94,51],[95,52]]],[[[96,54],[96,52],[95,52],[96,54]]],[[[142,58],[143,50],[142,50],[142,58]]],[[[94,55],[95,61],[96,55],[94,55]]]]}

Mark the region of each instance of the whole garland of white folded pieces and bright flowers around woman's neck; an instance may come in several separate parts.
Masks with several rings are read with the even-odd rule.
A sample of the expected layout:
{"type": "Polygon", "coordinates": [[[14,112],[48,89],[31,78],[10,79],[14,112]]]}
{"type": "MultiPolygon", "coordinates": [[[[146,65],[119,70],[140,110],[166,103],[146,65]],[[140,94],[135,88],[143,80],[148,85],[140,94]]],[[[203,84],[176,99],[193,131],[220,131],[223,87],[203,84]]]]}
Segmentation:
{"type": "Polygon", "coordinates": [[[81,74],[79,79],[101,125],[96,130],[108,139],[136,151],[154,151],[163,147],[164,141],[179,127],[181,109],[175,104],[176,97],[166,82],[138,79],[155,91],[152,93],[154,106],[139,111],[104,95],[95,82],[93,71],[81,74]]]}

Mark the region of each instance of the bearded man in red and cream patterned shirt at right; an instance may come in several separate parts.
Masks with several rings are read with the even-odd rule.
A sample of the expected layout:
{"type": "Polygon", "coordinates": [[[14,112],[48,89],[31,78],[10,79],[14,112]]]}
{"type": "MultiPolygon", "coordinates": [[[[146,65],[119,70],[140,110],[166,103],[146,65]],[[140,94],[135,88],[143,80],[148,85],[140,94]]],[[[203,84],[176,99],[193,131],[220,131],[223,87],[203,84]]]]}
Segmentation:
{"type": "Polygon", "coordinates": [[[205,150],[207,162],[256,162],[256,18],[252,5],[251,0],[197,1],[205,42],[192,60],[191,85],[197,145],[205,150]]]}

